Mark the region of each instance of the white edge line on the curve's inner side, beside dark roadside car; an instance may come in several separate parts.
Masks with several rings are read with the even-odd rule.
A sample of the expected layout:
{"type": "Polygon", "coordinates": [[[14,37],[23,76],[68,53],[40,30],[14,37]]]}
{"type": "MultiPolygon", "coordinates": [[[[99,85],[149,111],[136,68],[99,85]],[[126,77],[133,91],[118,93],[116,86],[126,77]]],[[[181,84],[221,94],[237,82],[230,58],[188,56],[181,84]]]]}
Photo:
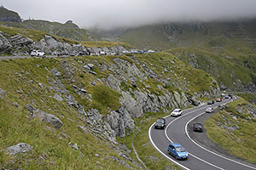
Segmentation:
{"type": "MultiPolygon", "coordinates": [[[[193,117],[191,120],[189,120],[189,122],[193,121],[196,117],[199,117],[199,116],[201,116],[201,115],[203,115],[203,114],[205,114],[205,112],[201,113],[201,114],[198,115],[198,116],[193,117]]],[[[186,123],[186,126],[185,126],[185,132],[186,132],[187,137],[188,137],[194,144],[196,144],[197,146],[201,147],[201,149],[207,150],[206,148],[204,148],[204,147],[201,146],[200,144],[197,144],[197,143],[195,142],[195,140],[193,140],[193,139],[190,138],[189,133],[188,133],[188,125],[189,125],[189,122],[187,122],[187,123],[186,123]]],[[[228,158],[228,157],[221,156],[221,155],[219,155],[219,154],[213,152],[212,150],[207,150],[207,151],[210,152],[210,153],[212,153],[212,154],[214,154],[215,156],[219,156],[219,157],[222,157],[222,158],[224,158],[224,159],[226,159],[226,160],[228,160],[228,161],[233,161],[233,162],[235,162],[235,163],[237,163],[237,164],[240,164],[241,166],[245,166],[245,167],[249,167],[249,168],[252,168],[252,169],[256,169],[256,167],[249,166],[249,165],[247,165],[247,164],[241,163],[240,161],[235,161],[235,160],[232,160],[232,159],[230,159],[230,158],[228,158]]]]}

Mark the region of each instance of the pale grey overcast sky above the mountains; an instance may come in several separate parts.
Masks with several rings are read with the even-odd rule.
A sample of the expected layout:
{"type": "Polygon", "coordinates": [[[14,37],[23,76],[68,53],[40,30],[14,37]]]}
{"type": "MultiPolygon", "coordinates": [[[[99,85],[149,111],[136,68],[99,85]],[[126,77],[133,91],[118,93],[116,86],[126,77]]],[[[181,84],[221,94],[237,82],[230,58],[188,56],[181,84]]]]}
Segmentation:
{"type": "Polygon", "coordinates": [[[256,18],[256,0],[1,0],[24,20],[73,20],[82,28],[132,27],[168,21],[256,18]]]}

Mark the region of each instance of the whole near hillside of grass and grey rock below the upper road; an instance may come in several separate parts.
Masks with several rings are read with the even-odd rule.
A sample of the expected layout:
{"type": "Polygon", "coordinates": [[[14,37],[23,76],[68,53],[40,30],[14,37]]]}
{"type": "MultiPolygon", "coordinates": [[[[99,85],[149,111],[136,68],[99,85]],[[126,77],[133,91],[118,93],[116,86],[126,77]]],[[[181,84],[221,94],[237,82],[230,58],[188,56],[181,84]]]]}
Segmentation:
{"type": "MultiPolygon", "coordinates": [[[[169,53],[0,63],[0,168],[5,169],[143,168],[131,143],[122,142],[140,131],[137,119],[150,115],[155,121],[219,94],[210,75],[169,53]]],[[[137,148],[144,146],[153,150],[143,152],[150,169],[177,168],[162,162],[150,144],[137,148]]]]}

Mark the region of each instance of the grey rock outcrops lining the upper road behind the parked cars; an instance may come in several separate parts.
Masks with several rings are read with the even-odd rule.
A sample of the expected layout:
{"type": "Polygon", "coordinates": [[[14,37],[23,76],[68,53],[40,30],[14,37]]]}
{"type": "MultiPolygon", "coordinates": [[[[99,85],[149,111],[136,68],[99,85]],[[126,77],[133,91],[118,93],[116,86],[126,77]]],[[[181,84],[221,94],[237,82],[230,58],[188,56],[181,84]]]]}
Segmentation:
{"type": "Polygon", "coordinates": [[[11,55],[30,55],[33,49],[40,49],[44,51],[45,54],[49,55],[84,54],[85,52],[98,54],[99,51],[104,51],[106,54],[121,54],[122,51],[125,50],[125,48],[121,46],[114,46],[113,48],[85,48],[79,43],[57,41],[54,37],[49,35],[45,35],[43,39],[35,42],[31,38],[21,36],[20,34],[10,37],[2,31],[0,31],[0,49],[0,54],[11,55]]]}

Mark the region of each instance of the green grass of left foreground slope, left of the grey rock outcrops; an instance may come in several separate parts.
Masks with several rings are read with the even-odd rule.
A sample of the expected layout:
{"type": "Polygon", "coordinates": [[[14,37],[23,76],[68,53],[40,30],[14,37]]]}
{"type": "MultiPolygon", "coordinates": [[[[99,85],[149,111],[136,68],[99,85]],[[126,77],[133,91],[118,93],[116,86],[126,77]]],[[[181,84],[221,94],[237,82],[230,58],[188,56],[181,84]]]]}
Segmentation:
{"type": "MultiPolygon", "coordinates": [[[[117,150],[113,150],[106,144],[105,139],[96,138],[91,133],[82,133],[79,130],[79,125],[86,124],[80,120],[79,114],[72,107],[64,101],[59,102],[50,97],[54,96],[55,92],[49,88],[51,85],[47,77],[49,79],[54,77],[45,67],[49,71],[52,68],[61,70],[60,63],[61,59],[0,61],[0,74],[2,75],[0,88],[7,91],[4,100],[0,100],[0,167],[11,169],[20,167],[24,169],[98,169],[100,167],[126,169],[111,159],[111,156],[116,156],[123,160],[119,157],[117,150]],[[44,88],[40,88],[38,82],[43,83],[44,88]],[[15,107],[15,102],[20,107],[15,107]],[[25,109],[27,104],[58,116],[63,123],[61,130],[32,118],[25,109]],[[63,136],[63,133],[67,134],[67,138],[63,136]],[[33,150],[18,156],[9,156],[5,153],[4,150],[7,147],[20,142],[32,145],[33,150]],[[79,150],[73,150],[68,143],[77,143],[79,150]],[[96,153],[101,157],[97,158],[96,153]]],[[[64,72],[62,74],[64,75],[64,72]]],[[[88,75],[84,74],[84,77],[88,75]]],[[[63,80],[63,83],[69,86],[67,80],[63,80]]],[[[99,89],[103,88],[102,92],[105,94],[111,92],[108,91],[109,88],[99,87],[99,89]]],[[[116,96],[113,97],[113,99],[116,98],[116,96]]],[[[115,105],[111,103],[110,107],[112,106],[115,105]]],[[[130,161],[126,162],[134,167],[130,161]]]]}

